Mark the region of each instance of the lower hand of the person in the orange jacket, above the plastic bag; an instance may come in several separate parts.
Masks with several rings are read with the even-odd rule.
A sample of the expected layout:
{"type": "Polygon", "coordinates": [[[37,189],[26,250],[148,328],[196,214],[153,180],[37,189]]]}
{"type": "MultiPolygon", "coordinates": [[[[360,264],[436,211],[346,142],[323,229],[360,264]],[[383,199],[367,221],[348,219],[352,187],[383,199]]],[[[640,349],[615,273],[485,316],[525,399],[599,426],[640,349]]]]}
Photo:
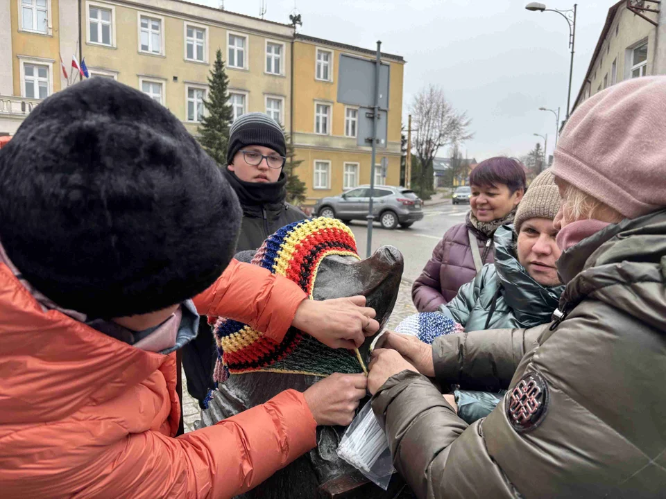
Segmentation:
{"type": "Polygon", "coordinates": [[[366,396],[367,385],[364,374],[334,373],[309,387],[303,396],[318,425],[348,426],[366,396]]]}

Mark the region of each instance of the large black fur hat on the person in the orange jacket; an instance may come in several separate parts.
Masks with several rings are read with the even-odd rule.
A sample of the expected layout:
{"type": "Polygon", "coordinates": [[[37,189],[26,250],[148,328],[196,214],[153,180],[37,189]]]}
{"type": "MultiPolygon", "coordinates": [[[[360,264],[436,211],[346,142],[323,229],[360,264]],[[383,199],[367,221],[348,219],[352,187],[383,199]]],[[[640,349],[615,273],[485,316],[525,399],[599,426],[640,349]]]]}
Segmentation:
{"type": "Polygon", "coordinates": [[[92,317],[205,290],[240,220],[234,191],[176,116],[112,80],[47,98],[0,150],[0,242],[37,290],[92,317]]]}

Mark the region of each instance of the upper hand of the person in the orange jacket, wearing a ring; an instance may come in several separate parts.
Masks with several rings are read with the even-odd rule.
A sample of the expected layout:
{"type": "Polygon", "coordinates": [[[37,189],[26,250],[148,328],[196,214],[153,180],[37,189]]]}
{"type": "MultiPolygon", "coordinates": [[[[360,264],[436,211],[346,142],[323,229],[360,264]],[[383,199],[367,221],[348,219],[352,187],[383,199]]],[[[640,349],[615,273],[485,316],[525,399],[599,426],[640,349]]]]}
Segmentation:
{"type": "Polygon", "coordinates": [[[303,300],[293,317],[292,326],[314,336],[331,348],[353,350],[366,336],[379,330],[375,310],[366,307],[366,297],[334,298],[323,301],[303,300]]]}

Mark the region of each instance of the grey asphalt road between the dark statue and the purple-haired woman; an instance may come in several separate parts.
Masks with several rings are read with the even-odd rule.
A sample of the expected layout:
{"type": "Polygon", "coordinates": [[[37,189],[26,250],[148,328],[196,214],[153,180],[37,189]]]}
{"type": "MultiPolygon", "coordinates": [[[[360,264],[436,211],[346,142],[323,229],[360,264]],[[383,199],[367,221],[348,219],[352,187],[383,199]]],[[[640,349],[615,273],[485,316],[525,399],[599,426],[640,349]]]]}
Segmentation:
{"type": "MultiPolygon", "coordinates": [[[[423,220],[414,223],[409,229],[382,229],[378,222],[373,225],[373,250],[384,245],[392,245],[400,249],[404,257],[404,273],[402,277],[413,281],[432,254],[435,245],[441,240],[450,227],[465,221],[469,211],[468,204],[453,206],[438,204],[434,207],[425,207],[423,220]]],[[[356,237],[359,255],[366,256],[368,227],[365,222],[352,221],[349,226],[356,237]]]]}

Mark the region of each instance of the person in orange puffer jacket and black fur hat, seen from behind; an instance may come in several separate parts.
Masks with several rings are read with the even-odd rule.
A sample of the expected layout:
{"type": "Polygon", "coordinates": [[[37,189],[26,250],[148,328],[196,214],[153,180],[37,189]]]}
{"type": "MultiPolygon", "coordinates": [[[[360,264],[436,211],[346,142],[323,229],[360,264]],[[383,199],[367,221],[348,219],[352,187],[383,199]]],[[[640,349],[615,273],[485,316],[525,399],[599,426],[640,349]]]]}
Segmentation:
{"type": "Polygon", "coordinates": [[[363,297],[307,300],[233,260],[239,221],[214,161],[139,91],[94,78],[28,116],[0,151],[3,497],[230,498],[351,421],[366,380],[333,375],[175,437],[199,314],[333,347],[377,329],[363,297]]]}

